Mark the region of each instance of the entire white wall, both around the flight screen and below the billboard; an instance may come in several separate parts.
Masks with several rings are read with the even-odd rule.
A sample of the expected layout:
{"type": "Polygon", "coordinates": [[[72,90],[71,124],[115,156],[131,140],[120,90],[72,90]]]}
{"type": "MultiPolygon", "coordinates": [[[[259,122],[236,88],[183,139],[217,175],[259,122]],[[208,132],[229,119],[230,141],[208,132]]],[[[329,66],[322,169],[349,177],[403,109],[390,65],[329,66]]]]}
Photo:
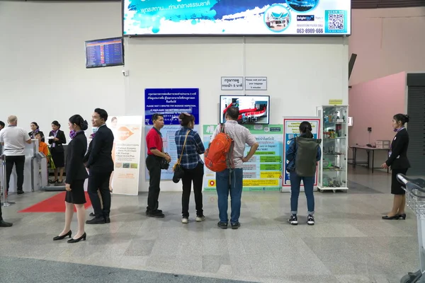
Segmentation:
{"type": "MultiPolygon", "coordinates": [[[[130,38],[121,67],[85,69],[84,40],[120,35],[120,3],[0,2],[0,117],[48,132],[95,107],[143,115],[145,88],[200,88],[200,123],[217,123],[221,76],[267,76],[271,123],[312,116],[329,99],[348,103],[348,40],[330,38],[130,38]],[[6,66],[6,68],[4,67],[6,66]]],[[[236,92],[235,92],[236,93],[236,92]]],[[[243,93],[243,92],[239,92],[243,93]]],[[[144,142],[142,144],[145,144],[144,142]]],[[[142,148],[145,155],[145,146],[142,148]]],[[[144,161],[142,161],[144,164],[144,161]]],[[[145,166],[140,190],[147,190],[145,166]]],[[[167,182],[162,190],[180,190],[167,182]]]]}

